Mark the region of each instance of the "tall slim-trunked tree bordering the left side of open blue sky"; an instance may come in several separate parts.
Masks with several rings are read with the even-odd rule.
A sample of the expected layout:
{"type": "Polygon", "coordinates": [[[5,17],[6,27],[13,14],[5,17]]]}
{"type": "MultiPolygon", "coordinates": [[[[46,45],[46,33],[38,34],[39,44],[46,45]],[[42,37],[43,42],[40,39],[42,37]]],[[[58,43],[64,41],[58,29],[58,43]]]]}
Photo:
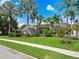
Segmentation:
{"type": "Polygon", "coordinates": [[[27,14],[27,25],[29,26],[30,18],[35,18],[36,3],[34,0],[20,0],[20,4],[23,14],[27,14]]]}

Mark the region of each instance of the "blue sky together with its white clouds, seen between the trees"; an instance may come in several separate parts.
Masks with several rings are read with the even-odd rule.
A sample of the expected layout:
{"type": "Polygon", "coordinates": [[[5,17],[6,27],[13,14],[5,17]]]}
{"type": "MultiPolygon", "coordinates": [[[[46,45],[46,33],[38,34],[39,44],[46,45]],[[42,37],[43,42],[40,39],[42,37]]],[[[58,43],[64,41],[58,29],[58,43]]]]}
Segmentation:
{"type": "MultiPolygon", "coordinates": [[[[0,0],[0,5],[3,4],[5,1],[10,0],[0,0]]],[[[19,0],[11,0],[11,1],[14,2],[16,5],[19,4],[18,3],[19,0]]],[[[64,0],[35,0],[35,2],[38,5],[39,14],[41,14],[46,18],[53,16],[55,13],[63,15],[64,10],[62,12],[58,12],[61,6],[55,6],[55,4],[59,2],[64,2],[64,0]]],[[[26,23],[25,18],[26,18],[25,15],[22,17],[17,17],[19,26],[26,23]]]]}

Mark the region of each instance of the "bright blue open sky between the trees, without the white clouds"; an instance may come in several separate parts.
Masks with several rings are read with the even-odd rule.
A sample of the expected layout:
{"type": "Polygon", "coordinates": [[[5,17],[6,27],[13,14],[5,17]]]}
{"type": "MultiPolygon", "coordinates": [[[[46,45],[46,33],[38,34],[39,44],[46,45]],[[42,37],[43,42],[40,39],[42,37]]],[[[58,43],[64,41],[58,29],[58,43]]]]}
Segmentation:
{"type": "MultiPolygon", "coordinates": [[[[12,0],[15,4],[18,4],[19,0],[12,0]]],[[[39,14],[43,15],[44,17],[50,17],[58,11],[60,6],[54,6],[58,2],[63,2],[64,0],[35,0],[38,5],[38,12],[39,14]],[[47,10],[47,7],[51,6],[54,10],[47,10]]],[[[63,12],[61,12],[63,13],[63,12]]]]}

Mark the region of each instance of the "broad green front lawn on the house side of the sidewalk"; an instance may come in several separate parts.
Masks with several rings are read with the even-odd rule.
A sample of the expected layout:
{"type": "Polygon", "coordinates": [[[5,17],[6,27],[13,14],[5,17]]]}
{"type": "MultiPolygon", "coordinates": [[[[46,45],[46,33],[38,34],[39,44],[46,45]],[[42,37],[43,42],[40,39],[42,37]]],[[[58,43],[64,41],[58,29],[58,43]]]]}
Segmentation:
{"type": "Polygon", "coordinates": [[[18,40],[18,41],[24,41],[24,42],[31,42],[36,44],[42,44],[62,49],[68,49],[68,50],[74,50],[79,51],[79,40],[68,40],[63,38],[56,38],[56,37],[31,37],[31,38],[17,38],[17,37],[7,37],[3,36],[1,38],[5,39],[12,39],[12,40],[18,40]],[[61,41],[71,41],[71,44],[63,44],[61,41]]]}

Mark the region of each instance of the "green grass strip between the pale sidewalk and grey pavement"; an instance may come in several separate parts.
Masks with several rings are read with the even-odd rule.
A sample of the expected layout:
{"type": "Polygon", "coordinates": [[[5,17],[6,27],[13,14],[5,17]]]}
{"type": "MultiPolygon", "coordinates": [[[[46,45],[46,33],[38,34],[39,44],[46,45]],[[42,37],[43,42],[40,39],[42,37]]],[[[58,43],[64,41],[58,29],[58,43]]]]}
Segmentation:
{"type": "Polygon", "coordinates": [[[43,49],[39,49],[35,47],[20,45],[20,44],[6,42],[6,41],[0,41],[0,45],[4,45],[7,47],[16,49],[25,54],[32,55],[38,59],[45,59],[45,57],[48,57],[47,59],[79,59],[79,58],[74,58],[74,57],[63,55],[63,54],[59,54],[56,52],[51,52],[48,50],[43,50],[43,49]]]}

